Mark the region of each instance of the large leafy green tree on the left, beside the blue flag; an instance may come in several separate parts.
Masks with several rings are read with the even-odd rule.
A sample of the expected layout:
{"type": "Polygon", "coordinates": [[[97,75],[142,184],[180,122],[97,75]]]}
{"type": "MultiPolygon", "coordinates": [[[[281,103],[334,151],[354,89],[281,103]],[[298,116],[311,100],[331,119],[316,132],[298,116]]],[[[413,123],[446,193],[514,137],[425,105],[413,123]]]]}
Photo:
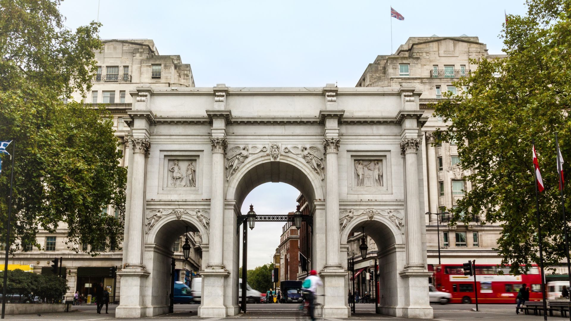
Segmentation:
{"type": "MultiPolygon", "coordinates": [[[[71,31],[58,6],[57,0],[0,0],[0,140],[17,144],[11,251],[40,247],[38,227],[66,228],[74,250],[81,243],[113,247],[123,237],[126,169],[119,167],[112,119],[83,102],[62,102],[91,87],[100,24],[71,31]],[[118,208],[119,218],[102,215],[108,204],[118,208]]],[[[0,175],[2,240],[7,159],[0,175]]]]}

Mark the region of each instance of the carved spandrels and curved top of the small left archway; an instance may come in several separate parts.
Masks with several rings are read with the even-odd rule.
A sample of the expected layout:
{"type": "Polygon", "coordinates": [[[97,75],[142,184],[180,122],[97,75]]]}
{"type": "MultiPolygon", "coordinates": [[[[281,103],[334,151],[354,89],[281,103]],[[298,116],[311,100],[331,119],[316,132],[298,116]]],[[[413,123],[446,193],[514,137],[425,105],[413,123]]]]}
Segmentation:
{"type": "Polygon", "coordinates": [[[165,246],[169,247],[171,243],[174,243],[180,235],[187,231],[187,227],[188,232],[200,233],[203,244],[209,243],[210,233],[208,226],[210,224],[210,213],[208,210],[160,209],[162,217],[156,218],[155,216],[156,223],[150,227],[150,224],[147,223],[151,222],[152,224],[152,215],[156,215],[153,213],[158,211],[156,209],[147,210],[145,243],[166,244],[165,246]]]}

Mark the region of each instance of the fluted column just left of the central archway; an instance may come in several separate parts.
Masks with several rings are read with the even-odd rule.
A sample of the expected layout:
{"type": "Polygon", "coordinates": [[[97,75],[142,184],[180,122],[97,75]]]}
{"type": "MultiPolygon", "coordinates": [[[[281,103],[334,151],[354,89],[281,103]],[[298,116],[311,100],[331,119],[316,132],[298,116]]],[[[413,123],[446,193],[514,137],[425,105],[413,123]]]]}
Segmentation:
{"type": "Polygon", "coordinates": [[[224,151],[226,138],[211,137],[212,191],[210,199],[210,262],[207,268],[224,268],[222,244],[224,232],[224,151]]]}

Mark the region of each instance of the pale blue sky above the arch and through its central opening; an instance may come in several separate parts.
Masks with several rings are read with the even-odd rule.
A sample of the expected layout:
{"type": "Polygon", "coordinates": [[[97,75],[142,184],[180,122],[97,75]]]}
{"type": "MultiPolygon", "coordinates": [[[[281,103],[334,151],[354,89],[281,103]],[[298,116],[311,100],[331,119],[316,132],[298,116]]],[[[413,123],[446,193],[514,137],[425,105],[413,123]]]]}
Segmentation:
{"type": "MultiPolygon", "coordinates": [[[[191,65],[197,87],[354,87],[377,55],[394,53],[409,37],[477,36],[490,54],[501,54],[504,10],[525,14],[524,2],[392,1],[404,21],[381,0],[66,0],[60,10],[71,29],[99,19],[102,39],[153,39],[159,54],[191,65]]],[[[287,214],[297,195],[287,184],[266,183],[242,212],[252,203],[258,214],[287,214]]],[[[271,262],[283,224],[258,223],[248,233],[249,268],[271,262]]]]}

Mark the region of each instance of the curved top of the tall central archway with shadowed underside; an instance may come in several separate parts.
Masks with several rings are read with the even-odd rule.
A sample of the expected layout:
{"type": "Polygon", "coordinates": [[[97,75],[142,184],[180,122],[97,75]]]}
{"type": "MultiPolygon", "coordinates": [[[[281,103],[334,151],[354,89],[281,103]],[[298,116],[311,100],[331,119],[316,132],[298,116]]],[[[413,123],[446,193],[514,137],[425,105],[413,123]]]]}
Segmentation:
{"type": "Polygon", "coordinates": [[[228,181],[226,199],[236,200],[240,208],[250,191],[268,182],[290,184],[305,196],[308,203],[325,198],[324,180],[319,174],[303,159],[282,154],[279,160],[272,160],[270,155],[248,159],[228,181]]]}

